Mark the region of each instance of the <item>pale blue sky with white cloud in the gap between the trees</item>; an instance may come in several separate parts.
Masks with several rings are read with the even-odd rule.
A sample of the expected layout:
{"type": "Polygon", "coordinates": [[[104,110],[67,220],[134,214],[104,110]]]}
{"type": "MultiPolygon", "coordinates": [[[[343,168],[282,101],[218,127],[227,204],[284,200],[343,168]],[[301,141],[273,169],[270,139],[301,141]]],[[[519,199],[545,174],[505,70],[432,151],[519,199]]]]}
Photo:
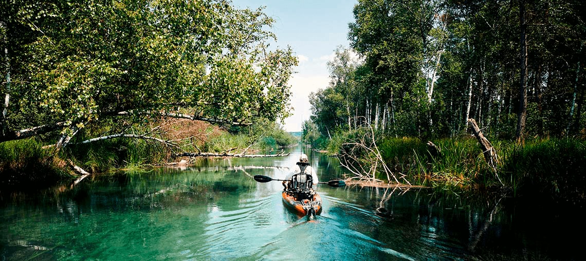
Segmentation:
{"type": "MultiPolygon", "coordinates": [[[[265,6],[264,13],[275,19],[271,32],[279,48],[291,46],[299,66],[289,79],[292,116],[285,119],[288,132],[300,132],[311,116],[309,94],[328,87],[326,63],[338,46],[348,47],[348,23],[354,21],[356,0],[234,0],[239,8],[265,6]]],[[[275,43],[273,43],[275,44],[275,43]]]]}

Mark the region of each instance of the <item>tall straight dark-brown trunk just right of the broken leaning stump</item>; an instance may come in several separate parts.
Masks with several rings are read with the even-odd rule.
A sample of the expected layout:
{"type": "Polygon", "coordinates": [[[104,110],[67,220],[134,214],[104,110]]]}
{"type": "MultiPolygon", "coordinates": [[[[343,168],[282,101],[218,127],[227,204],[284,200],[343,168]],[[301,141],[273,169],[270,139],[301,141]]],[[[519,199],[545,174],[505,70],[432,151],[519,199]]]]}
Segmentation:
{"type": "Polygon", "coordinates": [[[517,142],[523,143],[525,132],[525,121],[527,118],[527,74],[529,73],[527,64],[527,24],[525,20],[525,1],[519,0],[519,18],[521,25],[521,84],[519,86],[519,112],[517,116],[517,142]]]}

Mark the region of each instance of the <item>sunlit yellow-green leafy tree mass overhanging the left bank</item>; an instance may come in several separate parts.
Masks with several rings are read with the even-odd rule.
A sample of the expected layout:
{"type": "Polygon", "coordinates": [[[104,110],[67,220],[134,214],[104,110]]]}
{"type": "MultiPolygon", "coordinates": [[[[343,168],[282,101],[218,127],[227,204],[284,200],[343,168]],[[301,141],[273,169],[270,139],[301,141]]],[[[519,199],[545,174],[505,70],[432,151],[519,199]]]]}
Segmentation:
{"type": "Polygon", "coordinates": [[[83,129],[124,132],[161,116],[244,125],[288,116],[297,60],[290,48],[268,49],[274,21],[262,9],[226,0],[9,2],[2,47],[12,84],[0,92],[12,99],[0,142],[57,130],[64,146],[83,129]]]}

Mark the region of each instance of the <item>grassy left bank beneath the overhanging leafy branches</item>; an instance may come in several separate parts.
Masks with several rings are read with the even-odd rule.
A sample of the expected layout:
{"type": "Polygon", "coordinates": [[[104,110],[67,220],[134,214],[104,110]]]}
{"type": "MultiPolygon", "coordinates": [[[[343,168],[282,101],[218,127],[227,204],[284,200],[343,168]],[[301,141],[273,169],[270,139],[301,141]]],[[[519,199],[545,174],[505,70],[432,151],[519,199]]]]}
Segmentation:
{"type": "MultiPolygon", "coordinates": [[[[86,144],[71,145],[54,153],[52,141],[36,139],[14,140],[0,143],[0,188],[50,186],[61,180],[75,177],[67,161],[90,173],[114,170],[147,169],[156,164],[178,161],[178,152],[216,152],[233,150],[240,153],[251,143],[247,153],[265,153],[282,146],[297,143],[297,138],[274,123],[251,128],[223,129],[209,123],[173,121],[164,125],[164,140],[175,140],[175,146],[135,138],[114,138],[86,144]],[[179,149],[180,147],[180,149],[179,149]]],[[[96,136],[96,133],[80,135],[96,136]]]]}

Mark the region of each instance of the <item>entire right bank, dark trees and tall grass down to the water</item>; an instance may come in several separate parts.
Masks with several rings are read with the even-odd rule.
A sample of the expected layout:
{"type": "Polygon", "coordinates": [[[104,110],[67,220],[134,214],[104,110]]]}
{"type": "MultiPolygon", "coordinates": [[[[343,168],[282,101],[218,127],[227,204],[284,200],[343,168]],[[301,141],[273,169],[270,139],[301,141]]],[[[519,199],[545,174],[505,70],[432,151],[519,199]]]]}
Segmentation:
{"type": "Polygon", "coordinates": [[[581,198],[585,5],[358,1],[306,138],[363,178],[581,198]]]}

